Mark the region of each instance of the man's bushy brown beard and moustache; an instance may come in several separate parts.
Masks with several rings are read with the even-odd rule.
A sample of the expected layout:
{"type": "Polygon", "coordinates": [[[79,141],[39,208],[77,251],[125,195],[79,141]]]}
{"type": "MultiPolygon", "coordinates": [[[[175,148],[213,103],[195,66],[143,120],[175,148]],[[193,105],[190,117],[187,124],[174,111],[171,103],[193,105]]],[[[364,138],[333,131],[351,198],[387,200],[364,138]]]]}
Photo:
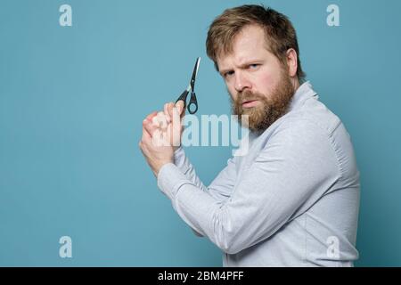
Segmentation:
{"type": "Polygon", "coordinates": [[[281,80],[270,94],[252,93],[249,90],[241,92],[237,94],[236,101],[231,99],[232,112],[238,116],[240,125],[252,132],[262,133],[287,112],[294,93],[290,77],[282,70],[281,80]],[[251,100],[258,100],[258,105],[242,108],[242,102],[251,100]],[[242,116],[248,116],[248,120],[242,122],[242,116]]]}

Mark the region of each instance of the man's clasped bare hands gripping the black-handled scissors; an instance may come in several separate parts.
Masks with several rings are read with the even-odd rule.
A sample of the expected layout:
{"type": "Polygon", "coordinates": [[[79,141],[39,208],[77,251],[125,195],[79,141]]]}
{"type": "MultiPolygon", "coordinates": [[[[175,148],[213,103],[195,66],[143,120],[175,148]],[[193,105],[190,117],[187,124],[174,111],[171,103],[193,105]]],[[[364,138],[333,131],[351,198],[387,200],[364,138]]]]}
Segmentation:
{"type": "Polygon", "coordinates": [[[174,151],[180,145],[183,131],[183,107],[184,102],[181,101],[176,105],[172,102],[166,103],[164,113],[152,112],[143,120],[139,147],[156,177],[162,166],[174,162],[174,151]]]}

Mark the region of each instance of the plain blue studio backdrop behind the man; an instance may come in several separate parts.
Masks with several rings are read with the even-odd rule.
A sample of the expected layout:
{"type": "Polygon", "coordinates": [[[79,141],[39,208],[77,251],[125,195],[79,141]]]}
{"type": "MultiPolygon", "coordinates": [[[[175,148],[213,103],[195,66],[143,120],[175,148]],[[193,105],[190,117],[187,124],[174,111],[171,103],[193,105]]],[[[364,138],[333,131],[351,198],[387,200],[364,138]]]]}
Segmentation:
{"type": "MultiPolygon", "coordinates": [[[[0,2],[0,265],[220,266],[159,191],[137,143],[202,57],[200,114],[229,113],[205,53],[244,1],[0,2]],[[72,27],[59,25],[61,4],[72,27]],[[72,258],[59,239],[72,238],[72,258]]],[[[356,265],[401,265],[401,2],[263,1],[297,28],[307,79],[351,134],[362,197],[356,265]],[[326,24],[340,6],[340,27],[326,24]]],[[[228,147],[186,152],[208,184],[228,147]]]]}

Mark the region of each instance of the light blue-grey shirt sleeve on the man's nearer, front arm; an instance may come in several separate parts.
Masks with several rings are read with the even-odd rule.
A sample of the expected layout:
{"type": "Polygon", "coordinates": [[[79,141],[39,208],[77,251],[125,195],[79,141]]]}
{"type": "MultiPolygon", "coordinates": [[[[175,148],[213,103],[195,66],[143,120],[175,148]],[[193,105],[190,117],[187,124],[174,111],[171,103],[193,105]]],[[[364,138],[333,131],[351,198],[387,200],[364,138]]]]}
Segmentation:
{"type": "Polygon", "coordinates": [[[160,169],[158,185],[185,223],[234,254],[278,231],[307,200],[330,189],[338,173],[329,136],[299,120],[272,134],[225,202],[201,191],[171,163],[160,169]]]}

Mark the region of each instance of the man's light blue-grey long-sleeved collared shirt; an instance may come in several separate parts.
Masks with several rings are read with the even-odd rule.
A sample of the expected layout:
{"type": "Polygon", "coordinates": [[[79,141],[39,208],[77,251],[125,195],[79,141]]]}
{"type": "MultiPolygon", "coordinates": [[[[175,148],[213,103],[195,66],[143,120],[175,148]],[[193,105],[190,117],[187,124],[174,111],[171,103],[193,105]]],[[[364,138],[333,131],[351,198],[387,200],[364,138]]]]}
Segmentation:
{"type": "Polygon", "coordinates": [[[352,266],[359,172],[349,134],[309,82],[289,111],[209,187],[184,149],[160,168],[158,186],[192,230],[224,252],[225,266],[352,266]]]}

